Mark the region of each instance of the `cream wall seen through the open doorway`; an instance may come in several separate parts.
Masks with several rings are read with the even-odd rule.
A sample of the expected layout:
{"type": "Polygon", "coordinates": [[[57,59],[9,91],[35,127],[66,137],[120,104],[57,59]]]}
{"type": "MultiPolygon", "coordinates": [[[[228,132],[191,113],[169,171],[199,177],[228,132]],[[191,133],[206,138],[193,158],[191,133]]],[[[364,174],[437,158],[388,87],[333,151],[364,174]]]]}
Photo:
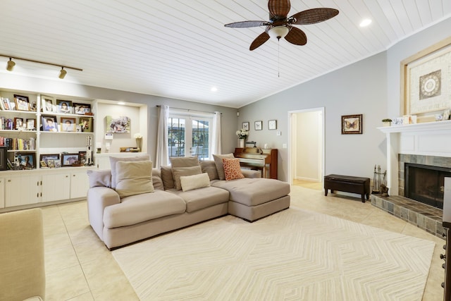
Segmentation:
{"type": "Polygon", "coordinates": [[[321,182],[321,111],[295,113],[295,178],[321,182]]]}

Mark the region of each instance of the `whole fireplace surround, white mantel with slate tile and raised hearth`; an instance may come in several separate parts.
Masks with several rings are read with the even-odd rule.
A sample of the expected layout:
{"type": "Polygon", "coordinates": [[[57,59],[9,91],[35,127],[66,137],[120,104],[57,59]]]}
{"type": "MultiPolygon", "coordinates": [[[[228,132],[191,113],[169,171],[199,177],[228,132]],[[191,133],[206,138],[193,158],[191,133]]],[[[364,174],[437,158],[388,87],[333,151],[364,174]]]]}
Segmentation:
{"type": "Polygon", "coordinates": [[[371,204],[443,238],[441,209],[404,197],[404,163],[451,168],[451,121],[378,128],[387,140],[390,197],[371,195],[371,204]]]}

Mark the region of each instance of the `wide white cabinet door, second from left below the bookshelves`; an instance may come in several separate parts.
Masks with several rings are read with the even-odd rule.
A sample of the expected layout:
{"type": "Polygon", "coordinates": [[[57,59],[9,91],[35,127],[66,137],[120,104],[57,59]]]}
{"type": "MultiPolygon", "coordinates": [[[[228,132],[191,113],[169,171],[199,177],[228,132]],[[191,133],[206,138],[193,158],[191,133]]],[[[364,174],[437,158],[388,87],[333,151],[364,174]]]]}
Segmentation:
{"type": "Polygon", "coordinates": [[[41,197],[40,176],[11,176],[5,183],[5,206],[36,204],[41,197]]]}

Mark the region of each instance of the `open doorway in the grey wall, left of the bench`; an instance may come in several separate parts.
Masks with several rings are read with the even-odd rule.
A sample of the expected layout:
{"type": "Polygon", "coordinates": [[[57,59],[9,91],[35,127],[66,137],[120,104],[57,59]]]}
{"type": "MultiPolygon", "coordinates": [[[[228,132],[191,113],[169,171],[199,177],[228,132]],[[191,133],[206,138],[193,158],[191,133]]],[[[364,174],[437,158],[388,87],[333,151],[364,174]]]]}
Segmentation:
{"type": "Polygon", "coordinates": [[[288,178],[292,185],[322,189],[324,108],[289,111],[288,178]]]}

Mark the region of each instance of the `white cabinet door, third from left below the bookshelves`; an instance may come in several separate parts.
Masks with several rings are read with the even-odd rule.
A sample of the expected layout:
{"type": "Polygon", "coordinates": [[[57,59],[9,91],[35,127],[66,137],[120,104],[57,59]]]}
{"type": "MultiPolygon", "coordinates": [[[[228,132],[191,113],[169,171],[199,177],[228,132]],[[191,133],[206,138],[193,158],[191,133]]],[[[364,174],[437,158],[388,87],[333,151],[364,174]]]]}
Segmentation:
{"type": "Polygon", "coordinates": [[[42,176],[42,202],[53,202],[69,198],[69,173],[56,173],[42,176]]]}

